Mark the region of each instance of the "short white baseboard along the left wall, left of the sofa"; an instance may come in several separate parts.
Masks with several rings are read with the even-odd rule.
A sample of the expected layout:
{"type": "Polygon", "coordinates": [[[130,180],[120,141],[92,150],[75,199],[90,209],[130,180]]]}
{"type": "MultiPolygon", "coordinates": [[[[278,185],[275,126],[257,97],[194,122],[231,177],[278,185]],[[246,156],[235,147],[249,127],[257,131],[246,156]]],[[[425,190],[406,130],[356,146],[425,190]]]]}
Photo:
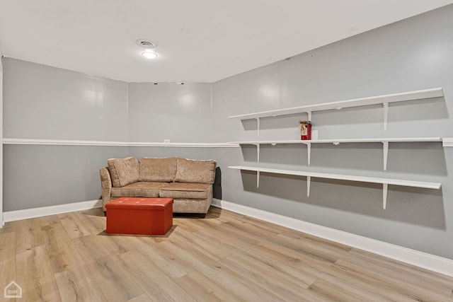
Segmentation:
{"type": "Polygon", "coordinates": [[[70,211],[82,211],[102,207],[102,200],[89,200],[87,202],[74,202],[72,204],[58,204],[50,207],[40,207],[34,209],[23,209],[17,211],[6,211],[3,214],[4,222],[29,219],[41,216],[67,213],[70,211]]]}

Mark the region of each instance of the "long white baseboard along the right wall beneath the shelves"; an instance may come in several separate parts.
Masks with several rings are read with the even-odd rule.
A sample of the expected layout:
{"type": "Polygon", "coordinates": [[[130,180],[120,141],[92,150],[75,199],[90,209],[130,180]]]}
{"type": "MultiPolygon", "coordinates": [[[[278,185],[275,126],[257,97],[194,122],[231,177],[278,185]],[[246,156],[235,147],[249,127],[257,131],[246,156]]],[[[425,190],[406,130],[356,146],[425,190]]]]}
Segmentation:
{"type": "Polygon", "coordinates": [[[253,209],[251,207],[246,207],[241,204],[234,204],[233,202],[226,202],[220,199],[213,199],[212,205],[214,207],[219,207],[221,209],[234,211],[239,214],[275,223],[279,226],[292,228],[296,231],[309,233],[313,236],[349,245],[352,248],[359,248],[360,250],[373,252],[377,255],[389,257],[394,260],[405,262],[410,265],[415,265],[417,267],[422,267],[433,272],[438,272],[440,274],[445,274],[447,276],[453,277],[453,260],[449,260],[444,257],[430,255],[426,252],[419,252],[418,250],[403,248],[398,245],[358,236],[352,233],[338,231],[334,228],[319,226],[314,223],[293,219],[287,216],[270,213],[268,211],[263,211],[260,209],[253,209]]]}

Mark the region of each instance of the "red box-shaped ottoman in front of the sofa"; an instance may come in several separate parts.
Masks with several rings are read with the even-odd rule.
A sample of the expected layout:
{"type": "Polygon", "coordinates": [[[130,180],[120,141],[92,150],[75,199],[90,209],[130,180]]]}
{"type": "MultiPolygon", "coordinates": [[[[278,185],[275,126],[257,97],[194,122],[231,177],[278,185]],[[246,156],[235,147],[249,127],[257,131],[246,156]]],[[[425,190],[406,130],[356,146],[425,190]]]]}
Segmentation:
{"type": "Polygon", "coordinates": [[[107,233],[165,235],[173,226],[172,198],[120,197],[105,209],[107,233]]]}

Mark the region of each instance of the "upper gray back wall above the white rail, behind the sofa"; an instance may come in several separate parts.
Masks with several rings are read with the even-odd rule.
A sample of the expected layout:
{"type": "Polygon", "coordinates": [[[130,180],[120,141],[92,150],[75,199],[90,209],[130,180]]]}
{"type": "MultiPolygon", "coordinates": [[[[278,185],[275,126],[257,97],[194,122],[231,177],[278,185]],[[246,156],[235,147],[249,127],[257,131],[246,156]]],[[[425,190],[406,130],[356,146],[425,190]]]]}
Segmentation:
{"type": "Polygon", "coordinates": [[[210,117],[209,83],[129,83],[129,141],[210,142],[210,117]]]}

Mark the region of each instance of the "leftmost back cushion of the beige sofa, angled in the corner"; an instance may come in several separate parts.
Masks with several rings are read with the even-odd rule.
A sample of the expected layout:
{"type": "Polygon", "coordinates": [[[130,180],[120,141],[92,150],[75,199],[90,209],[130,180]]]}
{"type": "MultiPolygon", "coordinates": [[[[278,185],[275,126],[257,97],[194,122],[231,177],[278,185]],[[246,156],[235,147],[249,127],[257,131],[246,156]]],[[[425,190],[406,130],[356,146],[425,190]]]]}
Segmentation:
{"type": "Polygon", "coordinates": [[[107,164],[113,187],[124,187],[139,181],[139,162],[137,158],[110,158],[107,160],[107,164]]]}

